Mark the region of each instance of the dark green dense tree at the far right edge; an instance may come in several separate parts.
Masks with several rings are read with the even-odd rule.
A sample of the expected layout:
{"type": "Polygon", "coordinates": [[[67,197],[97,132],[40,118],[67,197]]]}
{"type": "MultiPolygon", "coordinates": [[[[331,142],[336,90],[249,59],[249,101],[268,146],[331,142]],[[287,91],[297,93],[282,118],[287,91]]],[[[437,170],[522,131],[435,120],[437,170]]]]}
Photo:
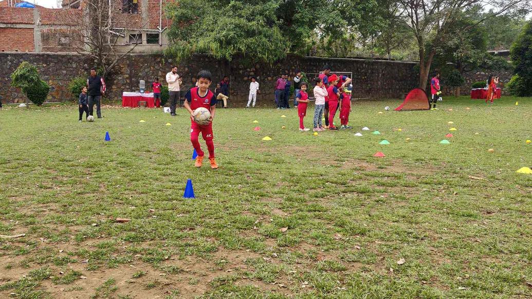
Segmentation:
{"type": "Polygon", "coordinates": [[[513,94],[521,96],[532,95],[532,20],[528,21],[523,31],[510,49],[510,57],[515,67],[516,75],[512,78],[513,94]]]}

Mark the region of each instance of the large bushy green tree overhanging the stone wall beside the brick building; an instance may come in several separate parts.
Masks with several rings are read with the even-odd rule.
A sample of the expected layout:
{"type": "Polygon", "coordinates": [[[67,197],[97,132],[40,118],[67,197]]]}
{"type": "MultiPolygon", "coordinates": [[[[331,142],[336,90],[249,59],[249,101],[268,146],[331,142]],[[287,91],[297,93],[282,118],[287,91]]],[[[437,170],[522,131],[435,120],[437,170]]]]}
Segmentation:
{"type": "Polygon", "coordinates": [[[177,59],[208,53],[229,61],[242,54],[250,61],[275,62],[284,58],[289,48],[279,28],[277,7],[276,1],[184,0],[167,5],[174,23],[165,53],[177,59]]]}

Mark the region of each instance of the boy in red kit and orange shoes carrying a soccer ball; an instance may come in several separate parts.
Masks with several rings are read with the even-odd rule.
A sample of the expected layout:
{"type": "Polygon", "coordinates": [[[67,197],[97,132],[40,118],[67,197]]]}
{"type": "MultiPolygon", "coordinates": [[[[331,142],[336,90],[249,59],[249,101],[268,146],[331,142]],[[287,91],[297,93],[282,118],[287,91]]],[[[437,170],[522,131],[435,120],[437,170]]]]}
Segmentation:
{"type": "Polygon", "coordinates": [[[213,133],[212,133],[212,120],[214,119],[214,113],[216,112],[216,104],[218,100],[216,96],[209,90],[211,85],[211,72],[207,70],[202,70],[197,75],[198,87],[190,88],[185,98],[185,109],[190,113],[190,142],[192,146],[196,149],[198,156],[196,157],[195,167],[202,167],[204,153],[201,149],[200,142],[198,142],[198,136],[200,132],[203,136],[203,140],[207,144],[207,149],[209,150],[209,160],[211,162],[212,169],[218,169],[218,164],[214,160],[214,143],[212,142],[213,133]],[[207,124],[200,125],[196,123],[193,119],[194,111],[200,107],[204,107],[209,110],[211,117],[207,120],[207,124]]]}

